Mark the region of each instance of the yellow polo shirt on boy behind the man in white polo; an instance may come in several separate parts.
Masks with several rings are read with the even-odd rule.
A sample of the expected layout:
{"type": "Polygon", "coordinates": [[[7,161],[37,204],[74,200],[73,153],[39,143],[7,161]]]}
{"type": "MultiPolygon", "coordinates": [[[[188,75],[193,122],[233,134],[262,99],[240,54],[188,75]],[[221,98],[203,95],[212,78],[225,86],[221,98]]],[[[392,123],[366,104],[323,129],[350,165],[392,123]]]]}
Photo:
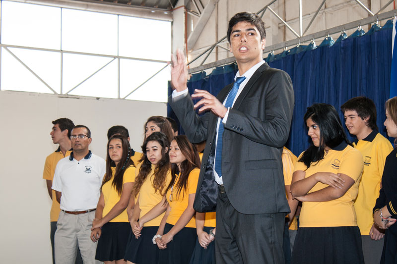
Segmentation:
{"type": "MultiPolygon", "coordinates": [[[[50,180],[52,182],[54,180],[55,167],[57,166],[58,161],[60,161],[62,158],[69,156],[71,152],[72,150],[66,151],[64,156],[62,155],[61,148],[58,147],[58,149],[55,152],[47,156],[46,162],[44,163],[43,179],[50,180]]],[[[52,195],[53,195],[53,199],[52,199],[53,201],[50,211],[50,221],[57,222],[59,217],[59,212],[61,211],[61,209],[60,209],[60,204],[57,201],[56,198],[57,196],[55,195],[54,190],[52,190],[52,195]]]]}

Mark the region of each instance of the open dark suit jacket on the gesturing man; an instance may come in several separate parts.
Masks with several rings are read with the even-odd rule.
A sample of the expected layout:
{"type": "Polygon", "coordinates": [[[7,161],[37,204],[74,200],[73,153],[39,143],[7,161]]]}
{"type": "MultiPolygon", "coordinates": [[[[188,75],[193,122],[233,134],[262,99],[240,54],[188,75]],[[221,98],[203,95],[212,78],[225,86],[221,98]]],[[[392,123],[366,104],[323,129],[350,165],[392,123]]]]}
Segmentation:
{"type": "MultiPolygon", "coordinates": [[[[223,102],[233,84],[217,98],[223,102]]],[[[193,109],[190,95],[169,104],[189,140],[207,140],[194,208],[214,211],[218,184],[214,180],[216,124],[211,112],[202,117],[193,109]]],[[[237,98],[223,132],[222,179],[227,197],[241,213],[289,212],[282,171],[282,147],[288,139],[294,106],[291,79],[284,71],[264,63],[237,98]]]]}

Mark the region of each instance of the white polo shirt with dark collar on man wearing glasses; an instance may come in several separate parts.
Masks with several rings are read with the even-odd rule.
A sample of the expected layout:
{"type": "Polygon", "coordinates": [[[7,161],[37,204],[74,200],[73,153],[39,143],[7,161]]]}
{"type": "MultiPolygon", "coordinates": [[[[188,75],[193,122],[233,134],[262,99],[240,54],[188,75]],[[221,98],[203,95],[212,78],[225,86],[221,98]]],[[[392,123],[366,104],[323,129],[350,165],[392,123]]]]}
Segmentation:
{"type": "Polygon", "coordinates": [[[106,162],[89,151],[80,160],[61,159],[55,168],[52,189],[62,192],[61,210],[85,211],[96,208],[100,196],[106,162]]]}

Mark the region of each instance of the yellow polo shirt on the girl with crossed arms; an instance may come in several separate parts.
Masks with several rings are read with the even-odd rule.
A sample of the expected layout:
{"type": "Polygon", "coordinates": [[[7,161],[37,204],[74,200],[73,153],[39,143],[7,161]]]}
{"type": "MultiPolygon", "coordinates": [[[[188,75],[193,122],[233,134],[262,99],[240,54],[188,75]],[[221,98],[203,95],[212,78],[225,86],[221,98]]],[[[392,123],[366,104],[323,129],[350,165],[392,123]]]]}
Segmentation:
{"type": "MultiPolygon", "coordinates": [[[[300,157],[302,157],[302,154],[300,157]]],[[[303,162],[298,161],[294,171],[304,171],[305,177],[309,177],[316,172],[332,172],[346,174],[355,181],[350,189],[338,199],[328,202],[303,202],[299,216],[299,227],[357,226],[353,201],[357,197],[363,166],[361,153],[344,142],[329,150],[319,162],[312,162],[307,169],[303,162]]],[[[328,186],[318,182],[308,194],[328,186]]]]}

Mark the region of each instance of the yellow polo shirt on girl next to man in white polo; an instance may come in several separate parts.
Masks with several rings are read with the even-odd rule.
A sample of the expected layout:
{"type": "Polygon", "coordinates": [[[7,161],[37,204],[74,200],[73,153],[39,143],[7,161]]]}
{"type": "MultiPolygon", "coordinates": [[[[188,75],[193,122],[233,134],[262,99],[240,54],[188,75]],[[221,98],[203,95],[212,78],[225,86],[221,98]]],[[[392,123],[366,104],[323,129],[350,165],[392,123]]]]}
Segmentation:
{"type": "MultiPolygon", "coordinates": [[[[116,191],[116,188],[113,186],[113,177],[115,176],[116,167],[112,167],[112,178],[105,182],[102,186],[103,198],[105,200],[105,207],[102,211],[102,217],[112,210],[112,208],[120,201],[119,193],[116,191]]],[[[123,186],[125,183],[134,182],[135,180],[135,167],[129,166],[124,171],[123,175],[123,186]]],[[[128,222],[128,214],[127,209],[122,213],[117,215],[115,218],[110,220],[110,222],[128,222]]]]}

